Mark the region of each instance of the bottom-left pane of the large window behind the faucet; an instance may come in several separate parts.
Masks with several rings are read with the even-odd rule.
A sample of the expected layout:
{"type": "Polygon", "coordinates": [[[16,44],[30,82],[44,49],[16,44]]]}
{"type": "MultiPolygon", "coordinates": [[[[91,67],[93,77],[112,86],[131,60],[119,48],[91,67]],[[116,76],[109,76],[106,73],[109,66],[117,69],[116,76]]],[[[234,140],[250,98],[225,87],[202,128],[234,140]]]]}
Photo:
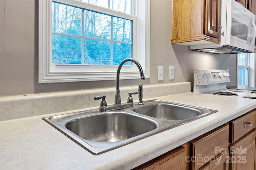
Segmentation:
{"type": "Polygon", "coordinates": [[[81,64],[81,38],[52,35],[53,64],[81,64]]]}

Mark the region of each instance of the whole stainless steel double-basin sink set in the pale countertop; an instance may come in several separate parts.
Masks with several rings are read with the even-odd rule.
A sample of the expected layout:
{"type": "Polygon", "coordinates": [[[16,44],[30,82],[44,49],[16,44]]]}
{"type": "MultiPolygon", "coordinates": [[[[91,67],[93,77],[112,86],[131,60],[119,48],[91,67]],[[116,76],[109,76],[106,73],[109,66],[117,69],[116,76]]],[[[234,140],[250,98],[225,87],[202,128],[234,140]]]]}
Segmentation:
{"type": "Polygon", "coordinates": [[[144,103],[106,112],[94,109],[44,117],[43,120],[97,155],[217,112],[161,100],[144,103]]]}

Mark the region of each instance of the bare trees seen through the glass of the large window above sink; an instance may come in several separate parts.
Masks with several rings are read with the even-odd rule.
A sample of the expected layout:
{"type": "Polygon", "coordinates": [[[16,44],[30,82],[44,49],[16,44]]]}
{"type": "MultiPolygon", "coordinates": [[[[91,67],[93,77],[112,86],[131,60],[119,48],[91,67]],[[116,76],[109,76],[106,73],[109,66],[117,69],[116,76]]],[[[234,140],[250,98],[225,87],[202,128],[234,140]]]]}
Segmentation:
{"type": "MultiPolygon", "coordinates": [[[[84,2],[132,11],[131,0],[84,2]]],[[[52,2],[52,64],[118,65],[132,58],[132,44],[131,20],[52,2]]]]}

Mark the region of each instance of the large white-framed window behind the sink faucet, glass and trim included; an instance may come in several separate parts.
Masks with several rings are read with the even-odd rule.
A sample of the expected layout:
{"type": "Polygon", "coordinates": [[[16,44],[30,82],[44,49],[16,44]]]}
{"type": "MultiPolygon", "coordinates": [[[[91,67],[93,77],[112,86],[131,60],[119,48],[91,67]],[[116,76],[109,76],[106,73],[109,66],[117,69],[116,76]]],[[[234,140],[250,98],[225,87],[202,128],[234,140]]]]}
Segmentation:
{"type": "MultiPolygon", "coordinates": [[[[114,80],[125,58],[148,78],[149,19],[149,0],[39,0],[39,83],[114,80]]],[[[125,63],[120,78],[138,76],[125,63]]]]}

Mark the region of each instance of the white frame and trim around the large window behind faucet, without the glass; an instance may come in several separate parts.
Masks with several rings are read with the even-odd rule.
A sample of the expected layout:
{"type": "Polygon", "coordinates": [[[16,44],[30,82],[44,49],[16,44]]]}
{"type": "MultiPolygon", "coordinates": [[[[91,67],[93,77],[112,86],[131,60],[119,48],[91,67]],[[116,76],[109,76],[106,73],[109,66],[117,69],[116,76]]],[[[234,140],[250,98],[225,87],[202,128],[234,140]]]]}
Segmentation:
{"type": "MultiPolygon", "coordinates": [[[[62,0],[54,0],[62,2],[62,0]]],[[[39,0],[39,72],[38,83],[55,83],[55,82],[81,82],[97,80],[115,80],[118,66],[114,65],[68,65],[52,64],[52,0],[39,0]]],[[[133,41],[133,58],[136,59],[144,70],[145,78],[149,78],[150,70],[150,0],[133,0],[138,6],[143,7],[135,10],[136,19],[133,22],[133,31],[136,36],[133,41]]],[[[75,5],[78,1],[64,1],[65,4],[75,5]]],[[[82,2],[84,8],[94,11],[103,10],[104,13],[114,16],[122,16],[123,13],[104,10],[104,8],[82,2]],[[117,14],[118,13],[118,14],[117,14]]],[[[106,8],[105,8],[106,9],[106,8]]],[[[131,16],[133,17],[133,16],[131,16]]],[[[138,78],[140,73],[135,64],[132,66],[122,66],[120,79],[138,78]]]]}

